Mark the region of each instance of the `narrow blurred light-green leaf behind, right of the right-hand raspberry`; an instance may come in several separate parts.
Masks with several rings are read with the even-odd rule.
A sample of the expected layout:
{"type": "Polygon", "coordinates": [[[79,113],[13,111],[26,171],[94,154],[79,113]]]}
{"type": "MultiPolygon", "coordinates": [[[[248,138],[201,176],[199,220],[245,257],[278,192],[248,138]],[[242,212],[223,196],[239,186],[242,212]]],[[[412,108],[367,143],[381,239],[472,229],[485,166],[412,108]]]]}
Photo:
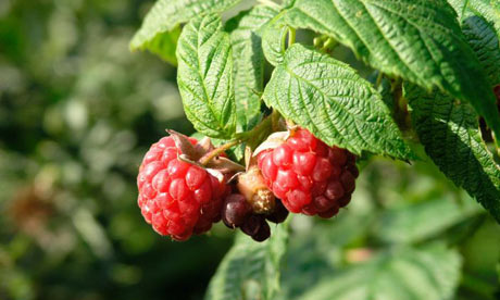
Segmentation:
{"type": "Polygon", "coordinates": [[[386,242],[418,242],[483,212],[474,201],[458,203],[454,196],[441,197],[384,211],[373,232],[386,242]]]}

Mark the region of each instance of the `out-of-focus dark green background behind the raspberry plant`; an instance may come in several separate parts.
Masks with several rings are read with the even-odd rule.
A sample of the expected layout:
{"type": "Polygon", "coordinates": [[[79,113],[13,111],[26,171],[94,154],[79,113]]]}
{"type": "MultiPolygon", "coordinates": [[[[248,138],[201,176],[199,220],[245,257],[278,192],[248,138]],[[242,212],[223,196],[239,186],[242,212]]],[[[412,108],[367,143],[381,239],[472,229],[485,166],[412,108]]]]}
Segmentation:
{"type": "MultiPolygon", "coordinates": [[[[229,249],[222,226],[162,238],[136,204],[149,145],[192,133],[175,68],[128,50],[151,3],[0,0],[0,299],[200,299],[229,249]]],[[[351,208],[291,228],[284,295],[352,253],[443,239],[463,255],[457,298],[495,299],[500,228],[428,162],[372,159],[351,208]]]]}

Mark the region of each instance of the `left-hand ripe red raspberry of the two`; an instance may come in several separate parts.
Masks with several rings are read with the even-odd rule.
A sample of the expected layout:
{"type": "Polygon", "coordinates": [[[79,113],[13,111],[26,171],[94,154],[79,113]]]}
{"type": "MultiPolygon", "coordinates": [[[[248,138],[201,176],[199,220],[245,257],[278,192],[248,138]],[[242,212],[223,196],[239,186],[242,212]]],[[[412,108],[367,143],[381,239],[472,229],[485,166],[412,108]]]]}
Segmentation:
{"type": "MultiPolygon", "coordinates": [[[[189,138],[192,145],[197,140],[189,138]]],[[[182,150],[172,136],[153,143],[137,176],[137,202],[146,222],[160,235],[187,240],[221,220],[222,200],[229,192],[225,180],[179,160],[182,150]]]]}

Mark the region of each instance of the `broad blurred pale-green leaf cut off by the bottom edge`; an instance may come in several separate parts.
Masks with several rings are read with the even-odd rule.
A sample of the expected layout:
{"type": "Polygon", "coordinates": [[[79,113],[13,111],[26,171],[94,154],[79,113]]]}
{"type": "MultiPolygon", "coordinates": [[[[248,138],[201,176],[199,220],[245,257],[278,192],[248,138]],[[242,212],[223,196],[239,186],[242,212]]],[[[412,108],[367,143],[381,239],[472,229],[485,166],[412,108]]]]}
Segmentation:
{"type": "Polygon", "coordinates": [[[450,299],[459,284],[460,268],[458,251],[441,243],[401,248],[333,272],[292,299],[450,299]]]}

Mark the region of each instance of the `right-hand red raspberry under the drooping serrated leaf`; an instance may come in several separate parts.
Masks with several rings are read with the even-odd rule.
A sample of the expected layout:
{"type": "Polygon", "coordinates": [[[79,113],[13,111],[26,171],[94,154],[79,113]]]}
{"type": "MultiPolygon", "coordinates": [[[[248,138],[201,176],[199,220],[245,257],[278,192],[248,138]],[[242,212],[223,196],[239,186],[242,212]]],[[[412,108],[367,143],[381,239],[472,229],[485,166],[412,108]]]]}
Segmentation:
{"type": "Polygon", "coordinates": [[[300,128],[275,149],[258,154],[266,185],[292,213],[332,217],[355,188],[355,158],[300,128]]]}

